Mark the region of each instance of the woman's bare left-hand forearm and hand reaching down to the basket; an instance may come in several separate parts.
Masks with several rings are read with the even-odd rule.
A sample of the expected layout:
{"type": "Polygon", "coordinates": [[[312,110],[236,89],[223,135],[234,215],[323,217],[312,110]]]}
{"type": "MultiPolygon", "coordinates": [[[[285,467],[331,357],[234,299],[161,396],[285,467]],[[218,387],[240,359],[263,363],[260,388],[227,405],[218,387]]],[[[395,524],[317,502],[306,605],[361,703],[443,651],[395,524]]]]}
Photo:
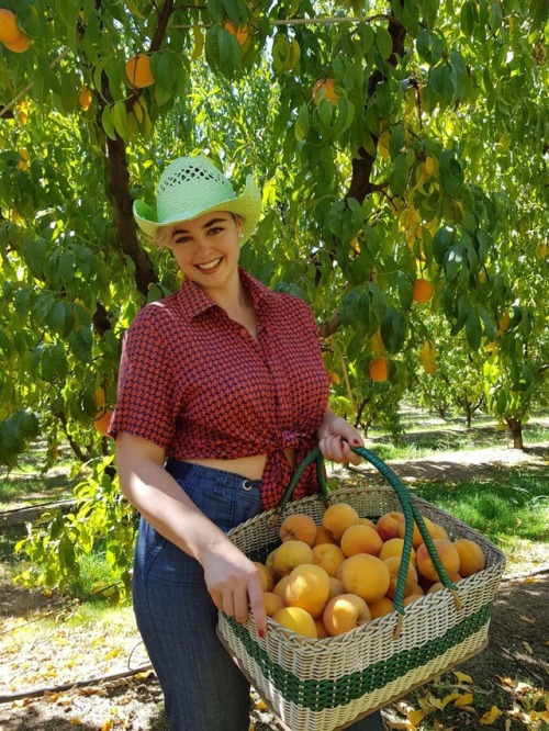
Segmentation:
{"type": "Polygon", "coordinates": [[[244,622],[251,606],[257,630],[265,633],[262,588],[254,563],[199,510],[166,472],[164,460],[164,449],[148,439],[117,435],[116,465],[125,497],[155,530],[200,562],[217,609],[244,622]]]}

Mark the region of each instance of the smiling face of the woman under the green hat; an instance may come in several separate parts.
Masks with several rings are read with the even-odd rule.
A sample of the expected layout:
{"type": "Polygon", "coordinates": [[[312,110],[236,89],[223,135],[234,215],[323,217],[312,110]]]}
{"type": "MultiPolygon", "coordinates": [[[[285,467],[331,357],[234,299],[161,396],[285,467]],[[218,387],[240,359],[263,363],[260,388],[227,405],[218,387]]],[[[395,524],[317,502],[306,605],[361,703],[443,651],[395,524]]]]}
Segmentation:
{"type": "Polygon", "coordinates": [[[232,213],[214,211],[176,224],[169,246],[186,277],[204,291],[219,289],[238,275],[240,228],[232,213]]]}

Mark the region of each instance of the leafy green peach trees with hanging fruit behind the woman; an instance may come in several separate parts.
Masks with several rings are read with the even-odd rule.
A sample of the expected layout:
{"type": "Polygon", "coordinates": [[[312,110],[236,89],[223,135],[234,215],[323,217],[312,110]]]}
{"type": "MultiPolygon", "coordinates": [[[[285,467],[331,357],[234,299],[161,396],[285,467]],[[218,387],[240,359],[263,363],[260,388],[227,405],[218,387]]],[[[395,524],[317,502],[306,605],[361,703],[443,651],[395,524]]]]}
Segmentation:
{"type": "Polygon", "coordinates": [[[520,446],[548,398],[542,0],[0,5],[0,462],[40,437],[45,466],[110,465],[124,330],[179,282],[132,201],[199,151],[260,183],[242,263],[310,302],[334,408],[396,431],[459,338],[520,446]]]}

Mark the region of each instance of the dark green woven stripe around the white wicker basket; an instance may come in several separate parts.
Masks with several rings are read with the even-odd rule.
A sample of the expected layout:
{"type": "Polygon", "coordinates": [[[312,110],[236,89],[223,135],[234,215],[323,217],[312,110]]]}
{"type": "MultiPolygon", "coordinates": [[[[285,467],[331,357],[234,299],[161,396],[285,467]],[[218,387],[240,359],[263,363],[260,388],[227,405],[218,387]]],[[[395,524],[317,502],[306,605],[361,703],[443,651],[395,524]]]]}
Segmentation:
{"type": "Polygon", "coordinates": [[[351,700],[361,698],[367,693],[383,688],[389,683],[445,654],[468,637],[475,634],[490,619],[491,608],[492,601],[466,617],[442,637],[430,640],[419,648],[404,650],[389,660],[369,665],[359,673],[350,673],[337,679],[325,681],[300,681],[296,675],[273,663],[265,650],[251,639],[245,627],[238,626],[231,618],[227,619],[233,632],[246,648],[248,655],[256,662],[265,678],[272,683],[283,698],[312,711],[322,711],[346,705],[351,700]]]}

